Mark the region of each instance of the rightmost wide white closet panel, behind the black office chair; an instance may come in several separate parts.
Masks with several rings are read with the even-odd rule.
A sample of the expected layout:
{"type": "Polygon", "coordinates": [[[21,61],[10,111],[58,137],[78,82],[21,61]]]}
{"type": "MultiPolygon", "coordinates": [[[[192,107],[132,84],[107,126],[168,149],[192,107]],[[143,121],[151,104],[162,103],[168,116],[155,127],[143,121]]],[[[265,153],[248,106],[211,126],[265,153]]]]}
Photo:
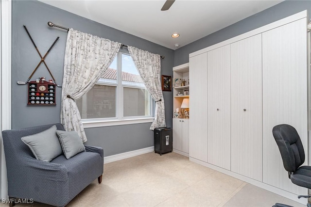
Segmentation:
{"type": "Polygon", "coordinates": [[[272,134],[289,124],[303,143],[307,164],[307,35],[306,18],[262,33],[263,182],[296,194],[272,134]]]}

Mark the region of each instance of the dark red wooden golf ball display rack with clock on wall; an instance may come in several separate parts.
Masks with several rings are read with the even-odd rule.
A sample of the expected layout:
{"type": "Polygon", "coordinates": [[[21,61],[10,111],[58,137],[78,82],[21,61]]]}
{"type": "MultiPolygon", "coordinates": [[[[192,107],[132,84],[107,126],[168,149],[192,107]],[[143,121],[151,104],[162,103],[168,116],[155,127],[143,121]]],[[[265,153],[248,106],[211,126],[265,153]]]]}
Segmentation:
{"type": "Polygon", "coordinates": [[[35,81],[28,82],[28,86],[27,105],[56,105],[56,84],[54,84],[53,82],[45,81],[45,78],[40,78],[35,81]]]}

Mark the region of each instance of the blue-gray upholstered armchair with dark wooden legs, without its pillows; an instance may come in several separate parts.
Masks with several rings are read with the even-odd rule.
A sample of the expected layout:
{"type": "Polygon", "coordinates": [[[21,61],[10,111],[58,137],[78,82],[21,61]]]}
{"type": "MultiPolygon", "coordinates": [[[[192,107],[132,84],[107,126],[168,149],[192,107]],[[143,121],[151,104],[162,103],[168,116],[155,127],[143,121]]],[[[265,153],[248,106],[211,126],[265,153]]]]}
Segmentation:
{"type": "MultiPolygon", "coordinates": [[[[53,125],[64,130],[61,124],[53,125]]],[[[42,132],[53,125],[2,131],[10,198],[32,199],[61,207],[94,179],[102,182],[104,150],[101,147],[85,145],[86,151],[70,159],[64,154],[51,162],[35,159],[21,137],[42,132]]]]}

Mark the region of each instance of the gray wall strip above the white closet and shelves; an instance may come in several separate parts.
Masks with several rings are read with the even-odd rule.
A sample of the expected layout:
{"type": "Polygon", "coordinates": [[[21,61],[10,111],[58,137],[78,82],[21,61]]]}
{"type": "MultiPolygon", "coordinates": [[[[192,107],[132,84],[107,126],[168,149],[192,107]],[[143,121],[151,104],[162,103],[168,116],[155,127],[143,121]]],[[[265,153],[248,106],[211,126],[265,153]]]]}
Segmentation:
{"type": "MultiPolygon", "coordinates": [[[[207,35],[195,42],[175,50],[174,66],[189,62],[189,54],[208,46],[220,43],[245,32],[252,31],[261,26],[275,22],[298,12],[308,10],[311,17],[311,0],[285,0],[253,16],[249,16],[220,31],[207,35]]],[[[230,18],[228,16],[228,18],[230,18]]]]}

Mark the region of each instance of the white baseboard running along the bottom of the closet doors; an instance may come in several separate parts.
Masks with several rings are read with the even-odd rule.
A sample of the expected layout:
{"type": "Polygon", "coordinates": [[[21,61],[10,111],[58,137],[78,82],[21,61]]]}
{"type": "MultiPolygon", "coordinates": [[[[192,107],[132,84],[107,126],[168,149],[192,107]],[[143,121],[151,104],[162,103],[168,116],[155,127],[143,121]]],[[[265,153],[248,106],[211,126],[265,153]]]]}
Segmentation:
{"type": "MultiPolygon", "coordinates": [[[[298,202],[298,203],[301,203],[301,204],[303,204],[303,205],[307,205],[307,203],[308,203],[307,198],[300,198],[300,199],[298,199],[298,198],[297,198],[297,195],[294,194],[294,193],[292,193],[292,192],[284,191],[284,190],[282,190],[282,189],[276,188],[276,187],[271,186],[271,185],[269,185],[269,184],[266,184],[266,183],[260,182],[260,181],[258,181],[258,180],[254,180],[254,179],[252,179],[252,178],[249,178],[249,177],[246,177],[246,176],[243,176],[243,175],[234,173],[234,172],[232,172],[232,171],[226,170],[226,169],[221,168],[221,167],[217,167],[217,166],[215,166],[215,165],[209,164],[209,163],[204,162],[204,161],[201,161],[201,160],[199,160],[199,159],[195,159],[195,158],[189,157],[189,160],[192,161],[192,162],[198,163],[198,164],[200,164],[200,165],[203,165],[203,166],[205,166],[205,167],[211,168],[211,169],[213,169],[213,170],[216,170],[216,171],[218,171],[218,172],[224,173],[224,174],[226,174],[226,175],[235,177],[235,178],[237,178],[237,179],[240,179],[240,180],[242,180],[242,181],[245,181],[245,182],[247,182],[247,183],[250,183],[250,184],[252,184],[252,185],[254,185],[254,186],[257,186],[257,187],[259,187],[259,188],[262,188],[262,189],[264,189],[264,190],[274,192],[274,193],[276,193],[276,194],[278,194],[278,195],[281,195],[281,196],[283,196],[283,197],[285,197],[285,198],[291,199],[291,200],[293,200],[293,201],[295,201],[295,202],[298,202]]],[[[307,194],[308,194],[308,192],[307,192],[307,189],[306,189],[306,195],[307,195],[307,194]]]]}

